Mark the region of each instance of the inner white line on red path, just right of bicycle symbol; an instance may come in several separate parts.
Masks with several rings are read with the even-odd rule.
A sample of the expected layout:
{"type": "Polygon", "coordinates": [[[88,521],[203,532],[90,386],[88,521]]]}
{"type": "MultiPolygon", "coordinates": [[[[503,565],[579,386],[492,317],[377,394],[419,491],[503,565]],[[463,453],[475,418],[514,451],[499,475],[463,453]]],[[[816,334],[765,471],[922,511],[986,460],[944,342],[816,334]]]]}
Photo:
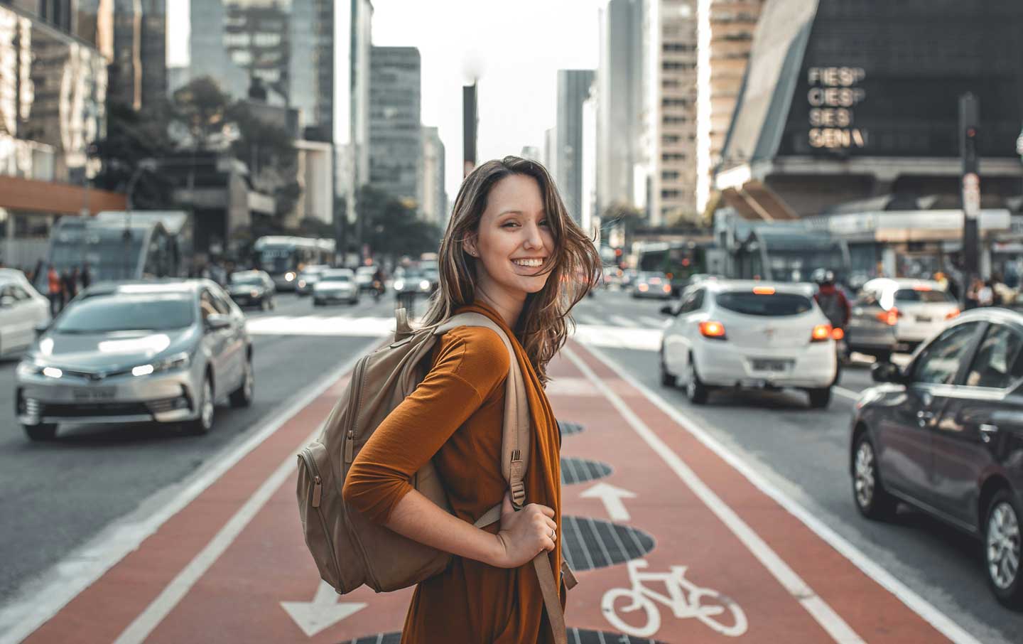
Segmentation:
{"type": "Polygon", "coordinates": [[[783,560],[777,553],[771,549],[767,543],[757,534],[724,501],[697,476],[696,472],[676,455],[661,438],[654,433],[646,423],[622,400],[622,398],[612,391],[604,382],[590,370],[582,358],[570,347],[562,349],[570,360],[579,369],[593,385],[599,389],[608,400],[618,410],[622,418],[628,422],[633,431],[642,438],[650,447],[657,453],[661,459],[670,467],[678,478],[693,490],[693,493],[700,499],[704,505],[710,509],[721,520],[725,526],[746,546],[746,549],[756,557],[761,564],[774,575],[779,584],[799,602],[803,608],[810,613],[817,624],[828,632],[838,644],[865,644],[865,641],[856,634],[852,628],[846,624],[835,610],[828,605],[825,600],[817,596],[813,589],[803,581],[788,563],[783,560]]]}

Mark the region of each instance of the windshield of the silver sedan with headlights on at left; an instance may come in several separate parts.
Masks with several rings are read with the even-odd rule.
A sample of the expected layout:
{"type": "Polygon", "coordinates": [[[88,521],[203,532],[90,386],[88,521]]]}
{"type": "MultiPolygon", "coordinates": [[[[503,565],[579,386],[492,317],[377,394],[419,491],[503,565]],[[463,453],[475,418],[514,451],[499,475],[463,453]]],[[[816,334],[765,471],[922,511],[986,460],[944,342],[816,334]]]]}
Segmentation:
{"type": "Polygon", "coordinates": [[[191,326],[194,303],[183,293],[88,297],[68,307],[53,325],[57,333],[171,331],[191,326]]]}

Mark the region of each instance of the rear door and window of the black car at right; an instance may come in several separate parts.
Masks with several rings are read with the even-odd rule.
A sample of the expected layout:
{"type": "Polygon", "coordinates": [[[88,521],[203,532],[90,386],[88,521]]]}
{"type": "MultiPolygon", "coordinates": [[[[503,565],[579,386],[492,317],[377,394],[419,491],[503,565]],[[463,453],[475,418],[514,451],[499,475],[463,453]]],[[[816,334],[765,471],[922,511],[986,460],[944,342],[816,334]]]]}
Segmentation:
{"type": "Polygon", "coordinates": [[[992,323],[935,426],[931,484],[935,506],[975,528],[980,482],[998,466],[1011,433],[1023,429],[1023,333],[992,323]]]}

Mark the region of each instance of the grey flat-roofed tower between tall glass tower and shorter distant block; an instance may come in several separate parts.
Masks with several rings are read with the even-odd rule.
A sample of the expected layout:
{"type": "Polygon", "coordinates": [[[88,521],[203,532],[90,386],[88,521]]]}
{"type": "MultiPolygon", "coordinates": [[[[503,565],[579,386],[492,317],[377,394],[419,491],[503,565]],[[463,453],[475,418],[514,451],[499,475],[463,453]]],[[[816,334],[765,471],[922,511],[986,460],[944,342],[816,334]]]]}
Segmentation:
{"type": "Polygon", "coordinates": [[[369,54],[369,183],[421,205],[419,65],[415,47],[373,47],[369,54]]]}

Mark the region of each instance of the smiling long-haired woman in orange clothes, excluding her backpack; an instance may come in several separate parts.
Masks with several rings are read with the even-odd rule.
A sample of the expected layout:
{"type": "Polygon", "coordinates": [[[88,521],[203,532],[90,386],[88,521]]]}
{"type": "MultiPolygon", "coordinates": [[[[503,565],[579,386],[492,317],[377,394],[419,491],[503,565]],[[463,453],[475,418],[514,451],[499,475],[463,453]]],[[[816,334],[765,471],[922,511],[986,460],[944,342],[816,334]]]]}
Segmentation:
{"type": "MultiPolygon", "coordinates": [[[[345,499],[370,520],[454,555],[444,573],[416,587],[403,644],[552,642],[529,565],[547,551],[561,588],[561,437],[543,386],[569,310],[590,288],[587,276],[599,274],[599,257],[546,170],[505,157],[462,182],[438,264],[440,287],[425,324],[476,311],[515,346],[532,420],[526,505],[513,511],[499,463],[507,349],[492,331],[469,327],[440,338],[422,383],[359,453],[345,499]],[[430,459],[453,515],[408,482],[430,459]],[[499,525],[473,526],[502,499],[499,525]]],[[[564,607],[564,591],[561,599],[564,607]]]]}

